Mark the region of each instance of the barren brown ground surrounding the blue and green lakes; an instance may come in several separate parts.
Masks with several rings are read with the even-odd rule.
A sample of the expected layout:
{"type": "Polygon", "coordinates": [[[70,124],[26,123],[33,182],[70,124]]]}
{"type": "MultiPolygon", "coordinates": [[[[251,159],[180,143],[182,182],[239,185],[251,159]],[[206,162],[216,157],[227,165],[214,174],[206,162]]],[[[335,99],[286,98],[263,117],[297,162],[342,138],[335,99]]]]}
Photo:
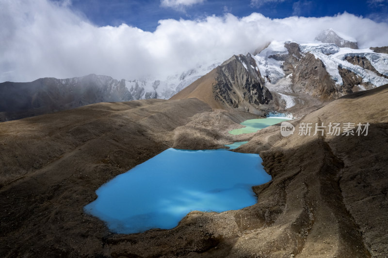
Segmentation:
{"type": "Polygon", "coordinates": [[[385,257],[388,87],[297,121],[369,122],[366,137],[230,136],[243,112],[196,99],[101,103],[0,123],[0,257],[385,257]],[[110,233],[83,213],[95,190],[169,147],[249,140],[273,180],[238,211],[191,212],[171,230],[110,233]]]}

